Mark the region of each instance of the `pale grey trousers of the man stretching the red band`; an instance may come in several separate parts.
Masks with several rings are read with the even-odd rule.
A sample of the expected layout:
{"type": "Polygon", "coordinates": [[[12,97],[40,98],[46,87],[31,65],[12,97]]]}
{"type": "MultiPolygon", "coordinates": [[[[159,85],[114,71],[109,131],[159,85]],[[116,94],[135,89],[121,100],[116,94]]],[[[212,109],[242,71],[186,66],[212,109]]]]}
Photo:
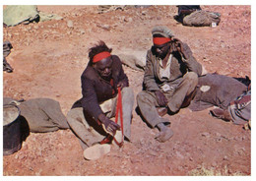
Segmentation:
{"type": "MultiPolygon", "coordinates": [[[[134,93],[131,88],[123,88],[121,93],[123,112],[123,132],[124,136],[128,140],[130,140],[134,93]]],[[[116,113],[116,103],[117,96],[102,102],[101,104],[99,104],[99,106],[108,118],[113,118],[116,113]]],[[[71,109],[67,114],[67,120],[72,131],[78,137],[83,150],[87,149],[88,147],[91,147],[97,142],[102,141],[106,136],[106,133],[103,131],[102,127],[96,124],[96,120],[93,120],[95,125],[92,125],[92,123],[90,123],[90,120],[86,119],[83,107],[71,109]]],[[[120,125],[119,116],[117,123],[120,125]]]]}

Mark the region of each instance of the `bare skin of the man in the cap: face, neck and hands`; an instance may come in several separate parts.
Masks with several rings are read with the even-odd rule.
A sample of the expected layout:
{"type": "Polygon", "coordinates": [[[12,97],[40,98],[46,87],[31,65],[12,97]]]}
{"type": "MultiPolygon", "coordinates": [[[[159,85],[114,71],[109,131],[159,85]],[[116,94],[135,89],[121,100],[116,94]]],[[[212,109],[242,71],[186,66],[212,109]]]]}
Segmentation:
{"type": "MultiPolygon", "coordinates": [[[[156,48],[157,56],[160,57],[162,60],[162,67],[165,68],[167,65],[167,61],[169,58],[169,55],[173,51],[178,51],[180,54],[186,59],[186,55],[183,53],[183,47],[182,43],[177,38],[171,38],[171,40],[167,43],[161,44],[161,45],[154,45],[156,48]]],[[[155,91],[155,94],[157,96],[158,103],[160,106],[166,106],[168,103],[167,98],[161,91],[155,91]]]]}

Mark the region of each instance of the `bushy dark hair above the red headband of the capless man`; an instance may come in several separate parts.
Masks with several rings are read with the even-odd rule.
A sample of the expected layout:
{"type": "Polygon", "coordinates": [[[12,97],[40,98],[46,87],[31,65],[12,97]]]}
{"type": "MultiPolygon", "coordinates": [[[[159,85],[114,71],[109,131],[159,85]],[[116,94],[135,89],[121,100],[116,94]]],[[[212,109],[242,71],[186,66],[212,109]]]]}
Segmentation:
{"type": "Polygon", "coordinates": [[[95,46],[93,46],[92,48],[89,49],[89,64],[93,65],[93,59],[96,56],[96,54],[102,52],[102,51],[107,51],[109,53],[111,53],[112,48],[108,48],[105,44],[104,41],[100,40],[97,42],[97,44],[95,44],[95,46]]]}

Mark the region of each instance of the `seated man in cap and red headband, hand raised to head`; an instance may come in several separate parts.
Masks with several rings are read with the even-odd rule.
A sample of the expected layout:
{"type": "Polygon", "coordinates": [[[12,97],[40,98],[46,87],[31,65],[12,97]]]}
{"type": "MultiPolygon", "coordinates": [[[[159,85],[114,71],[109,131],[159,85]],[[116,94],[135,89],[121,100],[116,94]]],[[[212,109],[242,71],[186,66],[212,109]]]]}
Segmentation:
{"type": "Polygon", "coordinates": [[[171,30],[155,27],[152,34],[154,45],[147,54],[144,91],[137,95],[137,103],[143,118],[160,130],[156,139],[165,142],[173,132],[166,127],[169,121],[160,117],[160,112],[174,114],[190,102],[202,66],[171,30]]]}

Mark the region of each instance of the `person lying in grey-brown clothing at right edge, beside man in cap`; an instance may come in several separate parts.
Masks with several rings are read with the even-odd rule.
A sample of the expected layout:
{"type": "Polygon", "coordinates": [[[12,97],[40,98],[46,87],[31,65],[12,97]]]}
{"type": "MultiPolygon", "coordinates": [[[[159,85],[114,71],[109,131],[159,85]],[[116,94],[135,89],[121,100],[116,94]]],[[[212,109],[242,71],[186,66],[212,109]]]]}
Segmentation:
{"type": "Polygon", "coordinates": [[[212,116],[244,125],[251,117],[250,82],[248,77],[231,78],[218,74],[202,76],[188,108],[200,111],[217,106],[210,110],[212,116]]]}

